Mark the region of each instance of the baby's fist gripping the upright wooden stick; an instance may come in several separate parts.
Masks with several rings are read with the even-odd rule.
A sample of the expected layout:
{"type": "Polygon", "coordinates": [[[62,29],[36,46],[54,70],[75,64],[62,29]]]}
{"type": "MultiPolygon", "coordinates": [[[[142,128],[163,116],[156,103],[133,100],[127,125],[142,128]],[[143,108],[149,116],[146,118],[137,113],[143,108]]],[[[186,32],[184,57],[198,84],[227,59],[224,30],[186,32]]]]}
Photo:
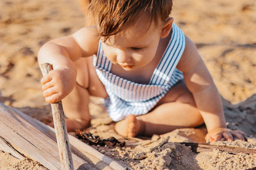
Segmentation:
{"type": "Polygon", "coordinates": [[[54,69],[41,79],[41,83],[46,102],[58,102],[73,90],[76,74],[66,68],[54,69]]]}

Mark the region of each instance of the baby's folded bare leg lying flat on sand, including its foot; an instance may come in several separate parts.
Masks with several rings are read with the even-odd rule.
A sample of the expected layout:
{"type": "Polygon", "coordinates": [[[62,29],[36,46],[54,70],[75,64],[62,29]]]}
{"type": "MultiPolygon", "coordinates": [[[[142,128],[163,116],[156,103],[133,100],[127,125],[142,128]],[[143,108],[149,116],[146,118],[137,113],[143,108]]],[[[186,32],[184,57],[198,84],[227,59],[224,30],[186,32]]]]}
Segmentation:
{"type": "MultiPolygon", "coordinates": [[[[134,116],[132,116],[134,117],[134,116]]],[[[116,123],[116,131],[128,137],[163,134],[177,128],[196,127],[203,123],[194,99],[183,81],[171,88],[151,112],[116,123]],[[142,129],[143,128],[143,129],[142,129]]]]}

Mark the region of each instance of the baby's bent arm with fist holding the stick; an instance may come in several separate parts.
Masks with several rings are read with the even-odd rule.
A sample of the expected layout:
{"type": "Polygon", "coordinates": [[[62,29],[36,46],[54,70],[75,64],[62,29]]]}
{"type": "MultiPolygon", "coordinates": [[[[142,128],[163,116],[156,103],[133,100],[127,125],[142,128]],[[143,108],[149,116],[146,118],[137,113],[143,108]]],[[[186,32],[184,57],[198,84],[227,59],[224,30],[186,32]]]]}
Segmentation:
{"type": "Polygon", "coordinates": [[[73,90],[76,83],[73,61],[97,53],[98,38],[95,30],[82,28],[70,36],[54,39],[41,47],[38,52],[39,66],[50,63],[54,68],[41,80],[46,102],[60,101],[73,90]]]}

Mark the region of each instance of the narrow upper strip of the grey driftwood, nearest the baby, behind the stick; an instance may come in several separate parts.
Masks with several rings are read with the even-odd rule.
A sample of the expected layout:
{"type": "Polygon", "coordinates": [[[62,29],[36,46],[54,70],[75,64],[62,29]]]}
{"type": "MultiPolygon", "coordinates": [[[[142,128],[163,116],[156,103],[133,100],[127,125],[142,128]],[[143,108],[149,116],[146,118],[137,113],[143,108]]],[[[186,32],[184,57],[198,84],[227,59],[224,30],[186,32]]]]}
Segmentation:
{"type": "MultiPolygon", "coordinates": [[[[36,129],[40,133],[44,134],[46,136],[47,140],[54,141],[55,147],[57,149],[54,128],[51,128],[50,126],[47,126],[44,123],[39,122],[38,120],[35,120],[34,118],[31,118],[28,115],[23,114],[22,112],[20,112],[17,109],[4,106],[4,104],[1,104],[1,103],[0,103],[0,119],[1,119],[1,110],[2,109],[5,109],[6,112],[8,112],[11,115],[15,115],[15,117],[19,117],[19,119],[26,122],[28,124],[28,126],[32,126],[34,129],[36,129]]],[[[1,128],[1,122],[0,122],[0,128],[1,128]]],[[[1,130],[0,130],[0,136],[1,136],[1,130]]],[[[95,168],[97,168],[97,169],[115,169],[115,170],[129,169],[126,166],[119,163],[118,161],[112,160],[108,156],[103,155],[102,153],[98,152],[97,150],[95,150],[94,148],[85,144],[84,142],[79,141],[79,139],[76,139],[76,137],[68,135],[68,138],[70,140],[71,151],[73,153],[73,155],[72,155],[73,161],[74,161],[74,158],[79,157],[86,162],[79,169],[88,167],[89,166],[88,164],[93,165],[94,167],[86,168],[86,169],[95,169],[95,168]]],[[[58,155],[58,150],[56,150],[55,152],[58,155]]],[[[60,162],[59,162],[59,164],[60,164],[60,162]]],[[[74,168],[75,169],[77,168],[75,161],[74,161],[74,168]]]]}

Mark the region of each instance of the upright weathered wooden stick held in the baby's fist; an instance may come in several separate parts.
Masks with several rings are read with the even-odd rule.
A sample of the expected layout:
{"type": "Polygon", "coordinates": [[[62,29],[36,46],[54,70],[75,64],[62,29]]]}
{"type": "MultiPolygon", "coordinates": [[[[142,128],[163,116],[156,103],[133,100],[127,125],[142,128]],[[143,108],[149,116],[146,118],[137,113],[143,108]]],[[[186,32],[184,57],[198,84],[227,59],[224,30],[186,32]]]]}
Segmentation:
{"type": "MultiPolygon", "coordinates": [[[[48,74],[52,70],[49,63],[41,64],[42,75],[48,74]]],[[[68,131],[66,130],[65,115],[63,112],[62,101],[51,103],[52,117],[54,118],[54,128],[60,154],[62,169],[73,170],[73,161],[71,155],[70,141],[68,140],[68,131]]]]}

